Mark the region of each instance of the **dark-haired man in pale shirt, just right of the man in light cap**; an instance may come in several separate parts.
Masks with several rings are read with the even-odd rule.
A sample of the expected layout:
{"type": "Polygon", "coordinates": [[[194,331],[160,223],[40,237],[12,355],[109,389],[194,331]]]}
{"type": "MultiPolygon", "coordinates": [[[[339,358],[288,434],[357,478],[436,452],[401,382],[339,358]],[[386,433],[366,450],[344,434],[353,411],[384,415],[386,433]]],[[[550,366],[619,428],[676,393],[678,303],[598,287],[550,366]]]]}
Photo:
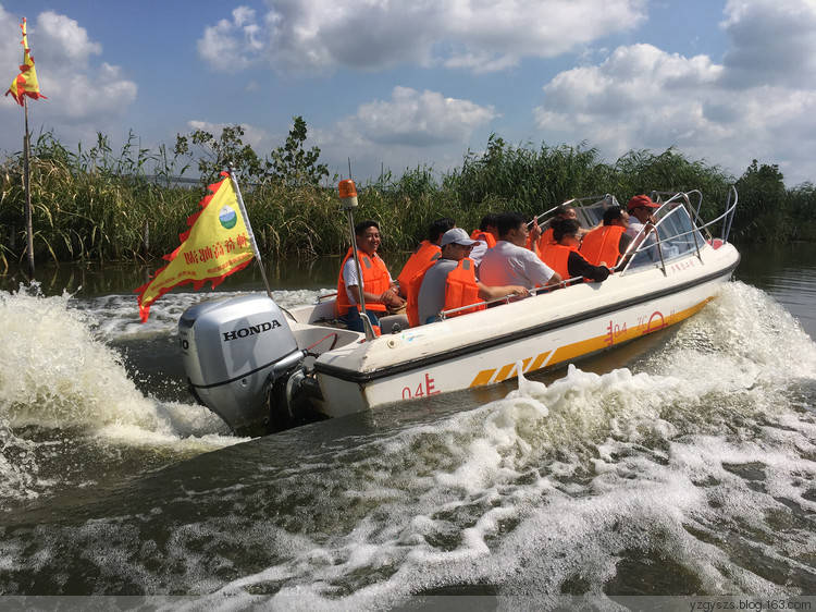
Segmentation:
{"type": "MultiPolygon", "coordinates": [[[[541,228],[534,223],[534,240],[539,238],[540,232],[541,228]]],[[[524,218],[518,212],[499,215],[498,242],[482,258],[479,280],[492,286],[512,284],[529,290],[561,282],[558,273],[539,259],[535,253],[524,248],[529,233],[524,218]]]]}

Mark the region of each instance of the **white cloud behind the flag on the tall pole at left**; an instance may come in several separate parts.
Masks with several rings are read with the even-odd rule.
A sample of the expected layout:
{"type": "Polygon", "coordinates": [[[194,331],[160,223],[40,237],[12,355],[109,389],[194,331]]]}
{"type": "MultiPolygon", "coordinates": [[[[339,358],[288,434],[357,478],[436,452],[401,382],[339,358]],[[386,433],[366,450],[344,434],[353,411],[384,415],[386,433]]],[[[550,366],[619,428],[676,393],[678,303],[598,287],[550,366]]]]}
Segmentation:
{"type": "MultiPolygon", "coordinates": [[[[0,62],[20,63],[18,20],[1,5],[0,32],[0,62]]],[[[136,84],[125,78],[119,66],[91,62],[91,57],[102,53],[102,47],[90,40],[76,21],[51,11],[40,13],[28,21],[28,44],[40,91],[48,97],[36,103],[35,125],[62,123],[62,137],[85,137],[113,127],[115,119],[136,99],[136,84]]],[[[5,98],[0,112],[11,117],[14,108],[13,100],[5,98]]]]}

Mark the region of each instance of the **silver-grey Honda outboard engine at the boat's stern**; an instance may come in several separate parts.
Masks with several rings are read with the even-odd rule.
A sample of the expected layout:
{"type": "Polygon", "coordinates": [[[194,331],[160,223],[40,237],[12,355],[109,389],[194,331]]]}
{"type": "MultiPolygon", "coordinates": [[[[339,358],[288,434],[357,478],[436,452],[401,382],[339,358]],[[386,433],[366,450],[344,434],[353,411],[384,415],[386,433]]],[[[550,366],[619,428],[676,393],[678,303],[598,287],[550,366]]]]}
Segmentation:
{"type": "Polygon", "coordinates": [[[187,308],[178,340],[193,394],[234,431],[268,423],[272,387],[285,388],[304,359],[283,311],[267,295],[187,308]]]}

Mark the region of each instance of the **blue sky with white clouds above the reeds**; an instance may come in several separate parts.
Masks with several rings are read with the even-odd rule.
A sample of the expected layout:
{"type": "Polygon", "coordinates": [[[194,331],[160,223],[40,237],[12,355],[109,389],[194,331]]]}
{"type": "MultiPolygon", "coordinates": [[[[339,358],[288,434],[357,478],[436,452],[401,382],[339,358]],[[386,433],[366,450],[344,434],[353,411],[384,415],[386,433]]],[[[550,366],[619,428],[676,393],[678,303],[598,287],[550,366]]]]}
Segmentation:
{"type": "MultiPolygon", "coordinates": [[[[23,16],[48,96],[30,130],[71,148],[240,124],[263,156],[301,115],[307,148],[358,181],[444,173],[495,133],[816,182],[816,0],[0,0],[8,84],[23,16]]],[[[18,151],[10,96],[0,125],[18,151]]]]}

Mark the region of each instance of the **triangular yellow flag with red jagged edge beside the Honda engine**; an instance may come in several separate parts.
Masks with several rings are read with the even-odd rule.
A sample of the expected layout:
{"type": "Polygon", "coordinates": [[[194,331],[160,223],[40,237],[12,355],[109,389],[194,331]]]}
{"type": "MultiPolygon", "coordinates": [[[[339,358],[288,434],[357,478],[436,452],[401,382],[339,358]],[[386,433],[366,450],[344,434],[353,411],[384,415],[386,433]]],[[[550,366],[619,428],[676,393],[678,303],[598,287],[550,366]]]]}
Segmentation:
{"type": "Polygon", "coordinates": [[[212,192],[200,203],[199,210],[187,219],[189,230],[178,236],[182,244],[164,259],[170,261],[158,270],[139,294],[139,316],[147,321],[150,305],[171,289],[194,283],[199,290],[208,281],[215,289],[226,277],[245,268],[254,257],[249,232],[240,213],[238,198],[230,174],[207,187],[212,192]]]}

